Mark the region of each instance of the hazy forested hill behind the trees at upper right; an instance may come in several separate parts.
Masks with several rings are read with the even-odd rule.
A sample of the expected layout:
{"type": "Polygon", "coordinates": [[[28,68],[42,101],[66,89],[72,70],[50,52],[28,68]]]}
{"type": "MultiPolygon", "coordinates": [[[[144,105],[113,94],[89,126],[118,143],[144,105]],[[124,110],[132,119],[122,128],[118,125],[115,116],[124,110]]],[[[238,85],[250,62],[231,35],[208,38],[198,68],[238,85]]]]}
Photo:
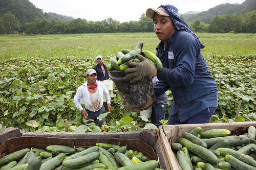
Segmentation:
{"type": "Polygon", "coordinates": [[[198,18],[202,22],[209,23],[216,15],[240,15],[253,10],[256,10],[256,1],[246,0],[242,4],[221,4],[214,8],[210,8],[208,11],[203,11],[198,14],[183,14],[182,16],[186,22],[191,22],[198,18]]]}

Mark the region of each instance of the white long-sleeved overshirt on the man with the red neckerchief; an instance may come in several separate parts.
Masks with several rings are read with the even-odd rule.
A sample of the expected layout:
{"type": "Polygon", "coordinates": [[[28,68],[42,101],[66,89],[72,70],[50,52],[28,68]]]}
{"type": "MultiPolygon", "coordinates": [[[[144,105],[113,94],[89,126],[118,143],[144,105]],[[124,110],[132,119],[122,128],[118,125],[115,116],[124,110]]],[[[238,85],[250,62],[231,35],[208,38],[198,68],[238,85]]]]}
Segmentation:
{"type": "MultiPolygon", "coordinates": [[[[96,112],[99,109],[95,109],[92,106],[90,96],[89,96],[89,91],[87,88],[87,83],[88,82],[86,81],[85,83],[83,83],[81,86],[78,87],[76,95],[74,97],[74,103],[75,103],[76,107],[81,111],[81,110],[83,110],[83,108],[80,103],[80,100],[82,99],[86,109],[88,109],[92,112],[96,112]]],[[[98,86],[97,86],[97,88],[98,88],[98,105],[100,105],[100,106],[103,105],[103,94],[105,95],[106,103],[110,104],[109,91],[106,89],[106,87],[103,83],[101,83],[99,81],[96,81],[96,83],[98,84],[98,86]]]]}

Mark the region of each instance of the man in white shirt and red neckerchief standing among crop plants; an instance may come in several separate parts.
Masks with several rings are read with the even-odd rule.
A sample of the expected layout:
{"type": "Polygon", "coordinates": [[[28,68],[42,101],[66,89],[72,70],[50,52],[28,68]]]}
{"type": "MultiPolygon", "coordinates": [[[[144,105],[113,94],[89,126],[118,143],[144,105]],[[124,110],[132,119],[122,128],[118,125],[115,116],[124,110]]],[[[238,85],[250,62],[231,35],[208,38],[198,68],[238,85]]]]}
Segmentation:
{"type": "Polygon", "coordinates": [[[102,122],[105,123],[105,118],[101,121],[97,117],[105,112],[103,106],[103,94],[105,95],[106,103],[108,104],[108,111],[112,111],[110,103],[110,94],[105,85],[97,81],[97,72],[95,69],[88,69],[86,73],[87,81],[78,87],[74,97],[76,107],[82,112],[86,119],[93,119],[99,127],[102,122]],[[83,100],[85,108],[83,109],[80,100],[83,100]]]}

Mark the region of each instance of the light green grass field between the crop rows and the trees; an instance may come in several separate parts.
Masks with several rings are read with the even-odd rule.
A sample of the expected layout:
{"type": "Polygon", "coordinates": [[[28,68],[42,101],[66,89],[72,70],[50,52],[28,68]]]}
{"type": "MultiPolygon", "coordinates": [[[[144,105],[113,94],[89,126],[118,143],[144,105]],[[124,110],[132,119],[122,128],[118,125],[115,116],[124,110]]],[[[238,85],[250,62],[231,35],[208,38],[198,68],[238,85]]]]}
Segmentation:
{"type": "MultiPolygon", "coordinates": [[[[255,55],[256,34],[198,33],[204,43],[203,55],[255,55]]],[[[98,33],[59,35],[0,35],[0,61],[9,58],[113,56],[122,48],[133,49],[138,41],[144,50],[156,52],[155,33],[98,33]]]]}

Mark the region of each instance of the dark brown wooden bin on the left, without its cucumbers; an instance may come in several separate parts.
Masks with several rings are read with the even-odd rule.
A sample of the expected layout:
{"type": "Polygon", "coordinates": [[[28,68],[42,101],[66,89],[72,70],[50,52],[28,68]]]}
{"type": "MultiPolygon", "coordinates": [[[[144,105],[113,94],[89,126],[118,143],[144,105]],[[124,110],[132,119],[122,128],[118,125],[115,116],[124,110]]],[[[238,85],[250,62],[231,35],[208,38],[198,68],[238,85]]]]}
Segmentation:
{"type": "MultiPolygon", "coordinates": [[[[8,129],[8,128],[6,128],[8,129]]],[[[14,128],[13,130],[18,129],[14,128]]],[[[12,131],[9,131],[12,133],[12,131]]],[[[0,133],[1,136],[1,133],[0,133]]],[[[149,159],[158,160],[159,167],[170,169],[163,143],[157,130],[144,129],[140,132],[121,132],[121,133],[44,133],[44,132],[24,132],[5,140],[0,145],[0,158],[6,154],[24,148],[46,149],[48,145],[60,144],[69,147],[94,146],[96,142],[126,145],[127,150],[142,152],[149,159]]]]}

